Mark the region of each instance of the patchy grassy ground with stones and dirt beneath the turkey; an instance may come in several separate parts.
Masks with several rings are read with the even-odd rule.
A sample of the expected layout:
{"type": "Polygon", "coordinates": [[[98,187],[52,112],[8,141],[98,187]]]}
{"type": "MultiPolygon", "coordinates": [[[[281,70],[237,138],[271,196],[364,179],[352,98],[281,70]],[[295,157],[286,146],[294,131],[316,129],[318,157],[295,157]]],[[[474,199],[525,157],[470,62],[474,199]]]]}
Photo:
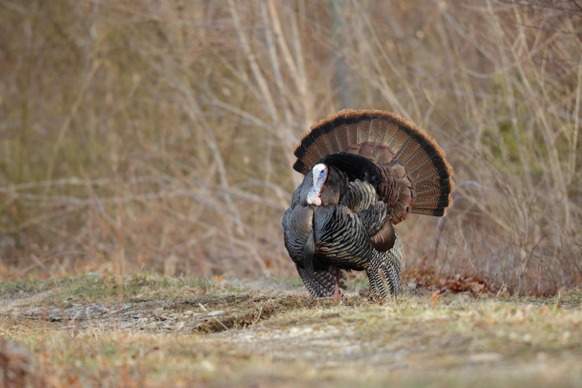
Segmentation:
{"type": "Polygon", "coordinates": [[[33,351],[30,386],[580,386],[581,300],[88,274],[2,283],[0,336],[33,351]]]}

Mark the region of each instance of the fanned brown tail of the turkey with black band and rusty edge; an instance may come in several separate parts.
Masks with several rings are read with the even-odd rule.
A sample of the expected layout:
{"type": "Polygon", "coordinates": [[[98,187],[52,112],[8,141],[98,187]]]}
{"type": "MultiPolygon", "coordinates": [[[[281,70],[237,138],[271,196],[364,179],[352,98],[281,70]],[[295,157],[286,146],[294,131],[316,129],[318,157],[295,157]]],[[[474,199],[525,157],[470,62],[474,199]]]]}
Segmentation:
{"type": "Polygon", "coordinates": [[[393,222],[407,213],[444,215],[455,190],[445,152],[419,127],[383,111],[343,110],[315,123],[294,149],[293,168],[306,174],[324,156],[349,152],[385,165],[399,183],[393,222]]]}

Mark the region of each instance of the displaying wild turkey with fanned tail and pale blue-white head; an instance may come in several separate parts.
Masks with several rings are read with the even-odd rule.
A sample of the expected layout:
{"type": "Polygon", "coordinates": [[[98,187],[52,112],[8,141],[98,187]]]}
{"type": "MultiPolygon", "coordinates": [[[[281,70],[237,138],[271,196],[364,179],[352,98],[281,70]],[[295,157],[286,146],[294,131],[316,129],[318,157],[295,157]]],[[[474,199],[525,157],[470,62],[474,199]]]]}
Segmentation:
{"type": "Polygon", "coordinates": [[[455,190],[445,152],[393,113],[344,110],[314,124],[294,149],[305,175],[283,216],[285,247],[308,292],[340,298],[341,270],[398,293],[403,251],[395,224],[444,216],[455,190]],[[384,282],[382,281],[384,278],[384,282]]]}

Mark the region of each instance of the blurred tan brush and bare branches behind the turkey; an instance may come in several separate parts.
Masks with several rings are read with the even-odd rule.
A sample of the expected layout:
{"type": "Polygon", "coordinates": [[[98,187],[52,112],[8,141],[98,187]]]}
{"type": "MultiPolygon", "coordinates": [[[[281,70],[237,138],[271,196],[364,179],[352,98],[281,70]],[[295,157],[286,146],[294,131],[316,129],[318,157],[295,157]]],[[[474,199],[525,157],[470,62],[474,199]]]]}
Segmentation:
{"type": "Polygon", "coordinates": [[[449,215],[399,226],[408,273],[580,284],[581,19],[582,1],[0,0],[0,275],[294,275],[293,145],[374,108],[455,169],[449,215]]]}

